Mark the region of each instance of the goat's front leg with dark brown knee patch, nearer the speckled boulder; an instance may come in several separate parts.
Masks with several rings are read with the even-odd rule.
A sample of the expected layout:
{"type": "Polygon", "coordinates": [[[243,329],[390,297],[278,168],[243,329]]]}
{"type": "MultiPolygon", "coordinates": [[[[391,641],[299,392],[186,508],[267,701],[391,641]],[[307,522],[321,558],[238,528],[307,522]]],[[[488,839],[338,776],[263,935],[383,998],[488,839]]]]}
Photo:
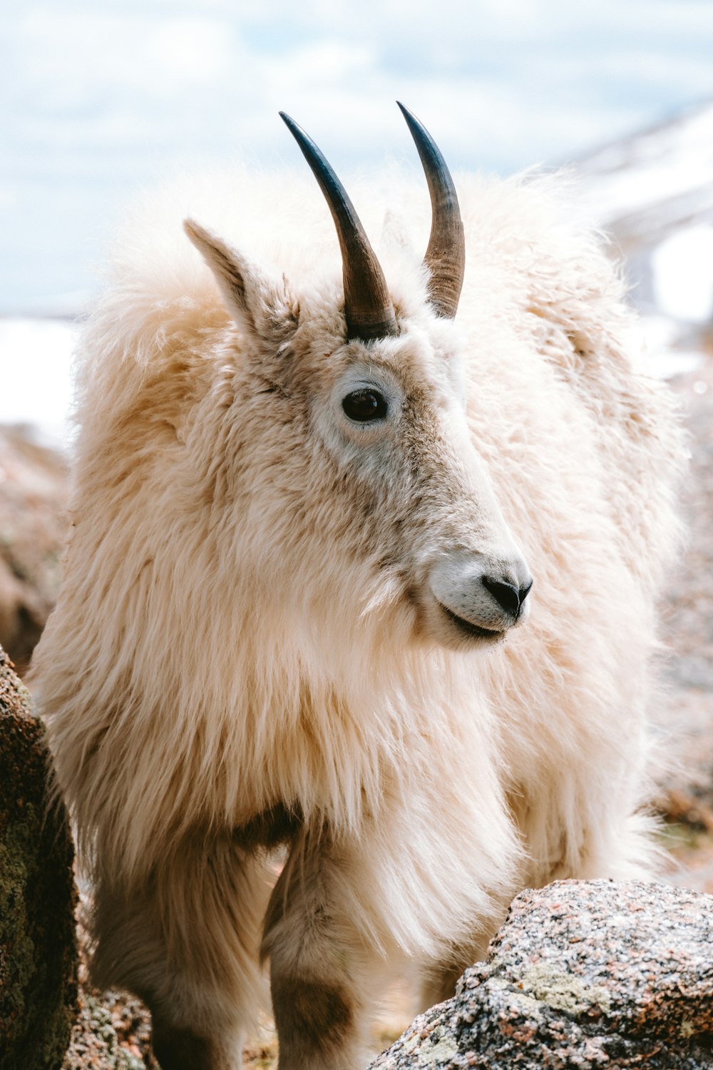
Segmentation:
{"type": "Polygon", "coordinates": [[[358,1070],[367,1063],[383,960],[357,927],[356,869],[328,835],[303,834],[273,892],[263,953],[270,959],[279,1070],[358,1070]]]}

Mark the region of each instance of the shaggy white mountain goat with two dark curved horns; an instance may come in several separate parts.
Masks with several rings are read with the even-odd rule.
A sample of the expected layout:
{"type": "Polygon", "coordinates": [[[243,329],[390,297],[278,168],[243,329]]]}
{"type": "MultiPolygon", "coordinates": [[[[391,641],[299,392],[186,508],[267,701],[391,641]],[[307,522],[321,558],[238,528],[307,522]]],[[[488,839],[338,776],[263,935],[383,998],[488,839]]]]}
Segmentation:
{"type": "Polygon", "coordinates": [[[341,258],[308,172],[238,174],[200,211],[246,251],[154,203],[84,334],[34,687],[164,1070],[241,1066],[261,959],[281,1070],[354,1070],[388,958],[435,999],[524,886],[648,863],[671,403],[561,182],[464,177],[461,216],[403,110],[424,261],[420,183],[377,260],[284,117],[341,258]]]}

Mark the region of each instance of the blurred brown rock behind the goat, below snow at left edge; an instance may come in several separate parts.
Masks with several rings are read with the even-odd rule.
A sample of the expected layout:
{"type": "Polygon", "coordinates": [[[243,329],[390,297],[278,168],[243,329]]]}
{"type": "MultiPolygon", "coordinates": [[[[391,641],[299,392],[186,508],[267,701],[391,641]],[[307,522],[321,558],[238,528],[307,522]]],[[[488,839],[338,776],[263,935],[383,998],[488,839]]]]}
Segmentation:
{"type": "Polygon", "coordinates": [[[57,598],[68,488],[61,454],[0,427],[0,644],[20,675],[57,598]]]}

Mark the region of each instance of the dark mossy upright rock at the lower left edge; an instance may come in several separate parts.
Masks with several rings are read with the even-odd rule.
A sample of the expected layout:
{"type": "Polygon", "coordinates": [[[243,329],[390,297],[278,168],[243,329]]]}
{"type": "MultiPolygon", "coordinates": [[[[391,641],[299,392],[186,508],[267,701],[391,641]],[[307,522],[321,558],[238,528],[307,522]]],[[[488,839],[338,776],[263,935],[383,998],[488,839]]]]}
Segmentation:
{"type": "Polygon", "coordinates": [[[77,994],[73,847],[44,733],[0,648],[0,1067],[59,1070],[77,994]]]}

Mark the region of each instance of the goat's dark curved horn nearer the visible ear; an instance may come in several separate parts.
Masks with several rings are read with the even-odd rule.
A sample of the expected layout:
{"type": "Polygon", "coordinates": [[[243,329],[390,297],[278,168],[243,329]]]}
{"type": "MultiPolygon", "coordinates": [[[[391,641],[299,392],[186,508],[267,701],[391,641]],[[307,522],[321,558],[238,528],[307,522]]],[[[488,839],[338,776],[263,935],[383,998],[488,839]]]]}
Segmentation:
{"type": "Polygon", "coordinates": [[[393,305],[376,254],[354,210],[346,190],[311,138],[290,116],[280,118],[303,151],[303,155],[327,199],[342,250],[344,316],[348,338],[386,338],[399,333],[393,305]]]}

